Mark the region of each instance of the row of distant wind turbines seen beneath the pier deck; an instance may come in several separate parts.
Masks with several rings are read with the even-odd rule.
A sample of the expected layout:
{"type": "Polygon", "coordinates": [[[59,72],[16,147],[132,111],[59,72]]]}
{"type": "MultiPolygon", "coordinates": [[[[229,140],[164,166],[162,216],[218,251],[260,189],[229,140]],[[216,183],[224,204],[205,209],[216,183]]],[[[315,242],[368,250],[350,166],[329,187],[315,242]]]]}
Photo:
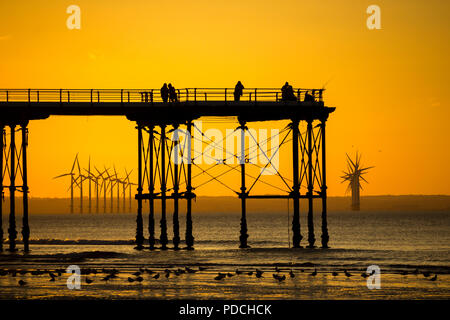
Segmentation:
{"type": "Polygon", "coordinates": [[[137,185],[131,182],[130,175],[133,172],[124,169],[124,173],[120,175],[115,165],[112,168],[103,166],[98,169],[95,165],[91,166],[91,159],[89,158],[88,166],[82,167],[79,162],[78,154],[72,164],[69,172],[60,174],[53,179],[69,179],[70,191],[70,212],[75,211],[75,193],[79,192],[79,209],[83,213],[85,209],[87,212],[131,212],[132,186],[137,185]],[[84,203],[85,195],[84,188],[87,192],[87,205],[84,203]],[[128,194],[128,198],[127,198],[128,194]],[[108,204],[109,203],[109,204],[108,204]],[[128,205],[127,205],[128,204],[128,205]],[[87,208],[86,208],[87,207],[87,208]]]}

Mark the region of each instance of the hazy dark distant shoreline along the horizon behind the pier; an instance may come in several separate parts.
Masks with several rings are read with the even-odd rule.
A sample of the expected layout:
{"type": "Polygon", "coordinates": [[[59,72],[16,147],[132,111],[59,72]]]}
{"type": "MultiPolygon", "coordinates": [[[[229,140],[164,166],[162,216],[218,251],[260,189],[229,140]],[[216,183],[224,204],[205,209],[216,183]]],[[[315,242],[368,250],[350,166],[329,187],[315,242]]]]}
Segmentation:
{"type": "MultiPolygon", "coordinates": [[[[346,212],[350,209],[350,197],[328,197],[328,212],[346,212]]],[[[155,209],[159,210],[160,201],[155,202],[155,209]]],[[[168,211],[172,210],[172,201],[168,201],[168,211]]],[[[89,200],[88,197],[83,198],[83,212],[87,213],[89,200]]],[[[111,201],[106,199],[106,213],[111,212],[111,201]]],[[[69,198],[30,198],[30,213],[70,213],[69,198]]],[[[147,210],[148,202],[144,202],[144,212],[147,210]]],[[[307,208],[307,202],[301,201],[301,211],[307,208]]],[[[117,202],[114,198],[113,212],[117,212],[117,202]]],[[[314,210],[319,212],[322,209],[320,199],[314,201],[314,210]]],[[[80,210],[80,199],[74,199],[74,212],[80,210]]],[[[120,199],[120,212],[134,213],[137,210],[137,201],[127,198],[125,210],[123,210],[123,202],[120,199]]],[[[180,212],[185,210],[185,201],[180,201],[180,212]]],[[[288,210],[288,201],[282,200],[248,200],[248,212],[286,212],[288,210]]],[[[292,211],[292,203],[289,203],[289,210],[292,211]]],[[[22,211],[22,201],[20,198],[16,200],[16,212],[20,214],[22,211]]],[[[99,212],[104,212],[103,198],[100,199],[99,212]]],[[[361,197],[361,212],[447,212],[450,213],[450,196],[449,195],[380,195],[380,196],[363,196],[361,197]]],[[[9,199],[6,197],[3,201],[3,214],[9,212],[9,199]]],[[[96,212],[95,197],[92,198],[91,212],[96,212]]],[[[158,211],[156,211],[158,212],[158,211]]],[[[240,200],[237,197],[209,197],[201,196],[193,202],[193,212],[197,213],[239,213],[240,200]]]]}

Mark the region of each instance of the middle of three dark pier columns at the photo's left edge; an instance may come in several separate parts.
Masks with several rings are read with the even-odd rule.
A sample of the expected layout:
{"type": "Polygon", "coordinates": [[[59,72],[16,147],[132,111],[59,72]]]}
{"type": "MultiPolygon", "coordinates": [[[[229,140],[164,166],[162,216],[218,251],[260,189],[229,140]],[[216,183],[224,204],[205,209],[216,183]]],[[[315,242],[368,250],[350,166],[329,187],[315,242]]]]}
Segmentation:
{"type": "Polygon", "coordinates": [[[10,144],[10,185],[9,185],[9,201],[10,201],[10,213],[9,213],[9,251],[16,251],[16,125],[10,125],[11,128],[11,144],[10,144]]]}

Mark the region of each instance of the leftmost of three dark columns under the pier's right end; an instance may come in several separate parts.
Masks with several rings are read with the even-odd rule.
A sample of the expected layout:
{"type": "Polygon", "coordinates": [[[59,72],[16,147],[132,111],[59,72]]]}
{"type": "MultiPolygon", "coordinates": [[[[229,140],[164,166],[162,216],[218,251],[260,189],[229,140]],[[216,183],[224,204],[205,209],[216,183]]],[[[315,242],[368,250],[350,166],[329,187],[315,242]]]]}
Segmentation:
{"type": "Polygon", "coordinates": [[[294,213],[292,217],[292,246],[294,248],[301,248],[300,242],[302,235],[300,233],[300,183],[299,183],[299,165],[298,165],[298,120],[293,120],[292,127],[292,199],[294,202],[294,213]]]}

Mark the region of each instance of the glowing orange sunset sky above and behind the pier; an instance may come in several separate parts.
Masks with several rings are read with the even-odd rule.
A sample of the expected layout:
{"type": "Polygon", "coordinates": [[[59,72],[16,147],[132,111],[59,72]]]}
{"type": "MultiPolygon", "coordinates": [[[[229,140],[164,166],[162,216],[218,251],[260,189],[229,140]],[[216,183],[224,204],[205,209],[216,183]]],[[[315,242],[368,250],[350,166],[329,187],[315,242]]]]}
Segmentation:
{"type": "MultiPolygon", "coordinates": [[[[326,85],[325,103],[337,108],[329,195],[345,194],[339,177],[356,150],[376,167],[363,195],[450,194],[449,33],[450,2],[437,0],[1,1],[0,88],[326,85]],[[66,27],[71,4],[81,30],[66,27]],[[381,30],[366,27],[371,4],[381,30]]],[[[68,196],[67,181],[52,177],[77,152],[85,166],[89,155],[121,171],[137,164],[125,118],[51,117],[29,130],[32,197],[68,196]]],[[[287,175],[289,160],[281,155],[287,175]]],[[[238,189],[238,176],[231,181],[238,189]]],[[[197,193],[230,194],[218,184],[197,193]]]]}

